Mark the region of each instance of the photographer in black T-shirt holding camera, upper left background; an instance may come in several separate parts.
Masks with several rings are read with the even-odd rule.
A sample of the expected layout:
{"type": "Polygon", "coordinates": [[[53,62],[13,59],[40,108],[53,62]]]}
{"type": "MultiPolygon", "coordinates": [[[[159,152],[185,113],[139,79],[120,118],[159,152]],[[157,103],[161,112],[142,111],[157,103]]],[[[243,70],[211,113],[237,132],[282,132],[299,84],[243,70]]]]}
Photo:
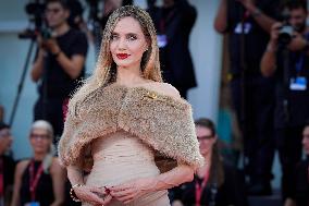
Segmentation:
{"type": "Polygon", "coordinates": [[[32,70],[38,82],[39,99],[35,105],[35,120],[48,120],[55,136],[63,130],[62,107],[85,73],[88,49],[86,36],[67,24],[70,11],[63,0],[49,0],[46,20],[52,36],[41,31],[39,49],[32,70]]]}

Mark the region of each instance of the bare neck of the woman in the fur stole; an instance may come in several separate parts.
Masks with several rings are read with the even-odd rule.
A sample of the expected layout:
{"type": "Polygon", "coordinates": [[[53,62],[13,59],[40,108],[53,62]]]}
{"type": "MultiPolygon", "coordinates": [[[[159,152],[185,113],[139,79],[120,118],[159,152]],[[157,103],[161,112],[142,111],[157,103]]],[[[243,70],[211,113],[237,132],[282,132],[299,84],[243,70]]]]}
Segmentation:
{"type": "Polygon", "coordinates": [[[118,68],[116,82],[122,85],[132,86],[135,84],[140,84],[145,80],[143,73],[138,68],[118,68]]]}

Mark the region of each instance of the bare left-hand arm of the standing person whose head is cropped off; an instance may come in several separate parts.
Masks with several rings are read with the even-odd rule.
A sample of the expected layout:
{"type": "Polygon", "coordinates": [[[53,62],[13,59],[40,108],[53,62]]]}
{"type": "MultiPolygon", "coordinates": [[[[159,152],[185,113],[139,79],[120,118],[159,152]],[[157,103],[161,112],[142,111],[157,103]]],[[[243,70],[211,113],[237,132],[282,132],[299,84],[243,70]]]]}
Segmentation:
{"type": "Polygon", "coordinates": [[[215,19],[214,19],[214,29],[223,34],[227,28],[227,3],[226,0],[221,0],[215,19]]]}

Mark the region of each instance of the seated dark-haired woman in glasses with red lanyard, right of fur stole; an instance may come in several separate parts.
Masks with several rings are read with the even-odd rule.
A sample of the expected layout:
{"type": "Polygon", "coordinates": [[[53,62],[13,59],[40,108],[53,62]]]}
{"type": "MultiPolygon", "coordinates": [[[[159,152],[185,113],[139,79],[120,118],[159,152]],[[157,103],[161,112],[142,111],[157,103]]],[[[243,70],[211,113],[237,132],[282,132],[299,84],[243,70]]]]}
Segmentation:
{"type": "Polygon", "coordinates": [[[173,206],[244,206],[247,204],[245,183],[238,171],[224,163],[220,156],[214,124],[209,119],[196,121],[199,149],[205,157],[203,167],[197,170],[194,181],[172,191],[173,206]]]}

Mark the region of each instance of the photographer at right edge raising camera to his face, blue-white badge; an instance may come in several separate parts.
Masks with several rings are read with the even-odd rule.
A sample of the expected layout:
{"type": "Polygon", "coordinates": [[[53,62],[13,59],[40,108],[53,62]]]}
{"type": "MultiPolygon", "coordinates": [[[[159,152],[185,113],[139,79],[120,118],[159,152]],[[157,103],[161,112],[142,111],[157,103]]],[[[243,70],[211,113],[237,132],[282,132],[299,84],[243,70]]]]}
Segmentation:
{"type": "Polygon", "coordinates": [[[264,76],[276,80],[275,143],[282,165],[283,201],[288,203],[294,169],[301,157],[301,132],[309,118],[309,29],[306,27],[306,1],[291,1],[285,10],[289,13],[287,23],[294,31],[289,33],[283,23],[272,26],[261,71],[264,76]]]}

